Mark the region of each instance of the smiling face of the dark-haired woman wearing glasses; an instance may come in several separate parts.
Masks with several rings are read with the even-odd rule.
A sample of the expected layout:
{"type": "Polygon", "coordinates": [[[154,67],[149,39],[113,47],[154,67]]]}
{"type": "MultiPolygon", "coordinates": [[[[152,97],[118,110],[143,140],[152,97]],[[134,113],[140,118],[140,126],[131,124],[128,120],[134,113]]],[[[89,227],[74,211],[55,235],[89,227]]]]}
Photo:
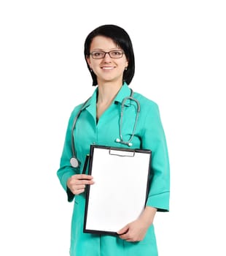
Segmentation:
{"type": "MultiPolygon", "coordinates": [[[[95,50],[103,50],[109,52],[110,50],[122,50],[109,37],[97,36],[93,38],[90,45],[90,53],[95,50]]],[[[104,59],[93,59],[92,56],[87,57],[87,63],[90,69],[96,74],[98,85],[107,82],[116,82],[122,84],[122,76],[125,68],[128,67],[128,60],[125,53],[122,58],[114,59],[105,54],[104,59]]]]}

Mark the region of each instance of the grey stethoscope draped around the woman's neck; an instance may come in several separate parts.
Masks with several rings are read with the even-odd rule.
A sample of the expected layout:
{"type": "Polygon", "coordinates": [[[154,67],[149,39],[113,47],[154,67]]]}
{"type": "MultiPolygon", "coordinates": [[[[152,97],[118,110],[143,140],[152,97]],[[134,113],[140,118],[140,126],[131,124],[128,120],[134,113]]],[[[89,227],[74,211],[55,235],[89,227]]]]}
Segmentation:
{"type": "MultiPolygon", "coordinates": [[[[126,146],[133,146],[133,143],[132,143],[132,140],[133,140],[133,137],[135,135],[135,131],[136,131],[136,125],[138,123],[138,118],[139,118],[139,113],[140,113],[140,110],[141,110],[141,105],[139,103],[139,101],[135,98],[133,98],[133,90],[131,90],[131,93],[130,93],[130,96],[129,97],[125,97],[124,99],[122,99],[122,105],[121,105],[121,113],[120,113],[120,138],[117,138],[115,140],[115,142],[117,143],[121,143],[123,145],[126,145],[126,146]],[[125,102],[130,99],[132,100],[133,102],[136,102],[136,118],[135,118],[135,121],[134,121],[134,125],[133,125],[133,132],[132,132],[132,135],[130,135],[130,139],[125,141],[123,140],[122,138],[122,120],[123,120],[123,110],[124,110],[124,106],[125,106],[125,102]]],[[[89,98],[90,99],[90,98],[89,98]]],[[[82,105],[82,108],[80,108],[79,112],[77,113],[77,116],[75,116],[74,118],[74,122],[73,122],[73,125],[72,125],[72,129],[71,129],[71,151],[72,151],[72,157],[70,159],[70,163],[71,163],[71,166],[72,167],[78,167],[79,166],[79,161],[78,159],[75,157],[75,146],[74,146],[74,128],[76,126],[76,123],[77,123],[77,120],[80,116],[80,114],[82,113],[82,110],[83,110],[83,107],[85,106],[85,104],[87,103],[87,101],[89,100],[87,99],[83,105],[82,105]]]]}

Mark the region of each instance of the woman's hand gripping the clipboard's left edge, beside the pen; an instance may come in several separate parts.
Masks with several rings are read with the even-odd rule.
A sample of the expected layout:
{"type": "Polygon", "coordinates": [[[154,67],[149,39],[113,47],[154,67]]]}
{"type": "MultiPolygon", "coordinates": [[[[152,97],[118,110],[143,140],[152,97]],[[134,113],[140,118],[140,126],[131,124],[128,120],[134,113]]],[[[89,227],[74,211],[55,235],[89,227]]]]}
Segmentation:
{"type": "Polygon", "coordinates": [[[74,195],[79,195],[85,191],[85,185],[93,185],[93,176],[87,174],[75,174],[67,181],[67,187],[74,195]]]}

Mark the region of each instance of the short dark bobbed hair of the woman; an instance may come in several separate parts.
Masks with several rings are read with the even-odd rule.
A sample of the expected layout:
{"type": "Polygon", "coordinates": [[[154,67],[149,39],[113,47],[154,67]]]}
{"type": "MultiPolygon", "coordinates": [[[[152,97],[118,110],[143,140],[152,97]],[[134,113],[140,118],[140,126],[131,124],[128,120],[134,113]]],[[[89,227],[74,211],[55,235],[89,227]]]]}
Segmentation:
{"type": "MultiPolygon", "coordinates": [[[[116,45],[118,45],[125,53],[126,58],[128,59],[128,67],[127,70],[123,73],[123,81],[125,81],[128,85],[130,84],[131,80],[133,79],[133,75],[135,72],[135,60],[134,60],[134,53],[133,53],[133,45],[130,40],[128,33],[120,28],[120,26],[116,25],[103,25],[99,26],[98,28],[94,29],[87,35],[85,39],[84,45],[84,55],[85,61],[87,63],[87,56],[90,56],[90,45],[94,37],[96,36],[103,36],[111,38],[116,45]]],[[[90,66],[87,63],[87,67],[90,71],[90,74],[93,78],[93,86],[97,85],[97,78],[94,72],[91,72],[90,66]]]]}

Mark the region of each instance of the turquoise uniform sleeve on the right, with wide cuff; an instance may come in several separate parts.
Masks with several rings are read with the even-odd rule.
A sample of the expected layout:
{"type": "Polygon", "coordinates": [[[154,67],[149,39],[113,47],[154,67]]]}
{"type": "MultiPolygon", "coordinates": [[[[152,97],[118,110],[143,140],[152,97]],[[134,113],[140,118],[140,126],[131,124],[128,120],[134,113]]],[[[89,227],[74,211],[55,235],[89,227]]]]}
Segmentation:
{"type": "Polygon", "coordinates": [[[157,211],[169,211],[170,166],[168,148],[159,108],[154,102],[147,110],[144,121],[142,148],[152,151],[149,195],[146,205],[157,208],[157,211]]]}

